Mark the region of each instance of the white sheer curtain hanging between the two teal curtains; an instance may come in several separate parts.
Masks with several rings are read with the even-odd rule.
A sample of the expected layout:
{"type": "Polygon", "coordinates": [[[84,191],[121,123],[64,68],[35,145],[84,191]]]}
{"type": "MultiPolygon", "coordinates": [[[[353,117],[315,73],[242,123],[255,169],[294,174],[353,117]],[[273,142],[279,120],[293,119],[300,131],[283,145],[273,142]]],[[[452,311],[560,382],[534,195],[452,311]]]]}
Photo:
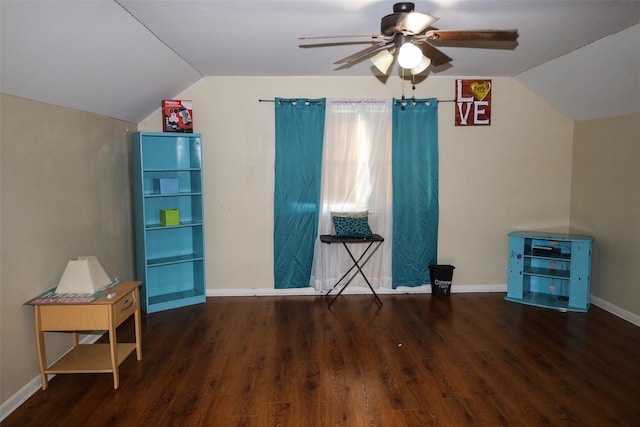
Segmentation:
{"type": "MultiPolygon", "coordinates": [[[[374,288],[391,288],[392,100],[327,99],[325,114],[318,232],[332,234],[331,212],[368,210],[371,230],[385,242],[363,271],[374,288]]],[[[350,245],[356,259],[366,246],[350,245]]],[[[342,245],[316,239],[311,286],[331,289],[351,265],[342,245]]],[[[349,286],[366,283],[358,274],[349,286]]]]}

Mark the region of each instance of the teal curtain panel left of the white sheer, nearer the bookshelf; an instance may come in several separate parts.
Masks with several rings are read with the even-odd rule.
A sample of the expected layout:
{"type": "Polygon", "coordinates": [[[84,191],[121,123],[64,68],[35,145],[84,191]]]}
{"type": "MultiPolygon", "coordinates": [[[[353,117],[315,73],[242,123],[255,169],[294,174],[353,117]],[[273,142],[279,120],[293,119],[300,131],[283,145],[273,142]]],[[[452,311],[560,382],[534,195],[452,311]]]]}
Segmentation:
{"type": "Polygon", "coordinates": [[[275,99],[274,283],[309,286],[318,236],[323,99],[275,99]]]}

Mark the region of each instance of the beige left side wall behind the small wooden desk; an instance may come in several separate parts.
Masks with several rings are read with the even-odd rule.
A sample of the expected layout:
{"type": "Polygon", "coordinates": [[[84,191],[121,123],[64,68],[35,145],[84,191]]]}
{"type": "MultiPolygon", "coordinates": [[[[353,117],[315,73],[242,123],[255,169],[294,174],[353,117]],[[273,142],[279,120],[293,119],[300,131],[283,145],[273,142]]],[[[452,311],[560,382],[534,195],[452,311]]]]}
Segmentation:
{"type": "MultiPolygon", "coordinates": [[[[39,375],[33,308],[67,261],[133,277],[129,132],[136,124],[0,94],[0,401],[39,375]]],[[[49,362],[71,346],[47,334],[49,362]]]]}

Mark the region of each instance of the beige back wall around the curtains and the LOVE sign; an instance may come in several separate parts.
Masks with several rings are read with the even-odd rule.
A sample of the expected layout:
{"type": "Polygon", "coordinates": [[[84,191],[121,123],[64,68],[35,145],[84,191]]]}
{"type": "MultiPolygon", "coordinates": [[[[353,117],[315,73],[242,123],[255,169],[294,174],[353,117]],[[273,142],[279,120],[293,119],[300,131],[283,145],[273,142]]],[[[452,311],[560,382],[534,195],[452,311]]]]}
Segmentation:
{"type": "MultiPolygon", "coordinates": [[[[430,77],[416,97],[453,99],[455,79],[430,77]]],[[[273,288],[274,107],[279,97],[399,98],[399,79],[204,78],[193,100],[203,134],[207,289],[273,288]]],[[[405,83],[405,93],[411,94],[405,83]]],[[[510,78],[493,79],[489,127],[453,125],[439,106],[439,262],[458,285],[506,283],[507,233],[568,231],[573,122],[510,78]]],[[[161,130],[160,111],[139,124],[161,130]]]]}

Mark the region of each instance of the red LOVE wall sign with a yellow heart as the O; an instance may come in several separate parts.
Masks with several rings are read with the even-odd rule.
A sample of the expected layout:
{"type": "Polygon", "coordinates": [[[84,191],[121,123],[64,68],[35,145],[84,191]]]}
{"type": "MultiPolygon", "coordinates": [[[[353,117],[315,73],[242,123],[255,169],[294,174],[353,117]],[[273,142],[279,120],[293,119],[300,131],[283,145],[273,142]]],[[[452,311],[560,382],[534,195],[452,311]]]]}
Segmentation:
{"type": "Polygon", "coordinates": [[[491,125],[491,80],[456,80],[456,126],[491,125]]]}

